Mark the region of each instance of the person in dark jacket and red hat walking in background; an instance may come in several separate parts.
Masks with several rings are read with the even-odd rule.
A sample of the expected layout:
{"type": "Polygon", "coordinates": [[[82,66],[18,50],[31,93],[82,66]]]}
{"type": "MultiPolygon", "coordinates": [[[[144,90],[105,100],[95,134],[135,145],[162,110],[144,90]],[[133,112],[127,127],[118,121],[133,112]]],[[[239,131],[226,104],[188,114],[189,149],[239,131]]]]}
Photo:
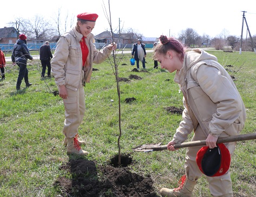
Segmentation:
{"type": "Polygon", "coordinates": [[[16,44],[14,45],[14,51],[12,51],[12,55],[11,55],[11,60],[13,62],[12,65],[15,65],[16,63],[19,67],[16,90],[21,89],[21,82],[23,78],[24,78],[26,87],[29,87],[32,85],[31,83],[29,83],[29,77],[28,77],[28,73],[29,73],[27,69],[28,59],[33,60],[27,46],[27,36],[25,36],[24,34],[21,34],[19,35],[19,39],[17,39],[16,44]]]}

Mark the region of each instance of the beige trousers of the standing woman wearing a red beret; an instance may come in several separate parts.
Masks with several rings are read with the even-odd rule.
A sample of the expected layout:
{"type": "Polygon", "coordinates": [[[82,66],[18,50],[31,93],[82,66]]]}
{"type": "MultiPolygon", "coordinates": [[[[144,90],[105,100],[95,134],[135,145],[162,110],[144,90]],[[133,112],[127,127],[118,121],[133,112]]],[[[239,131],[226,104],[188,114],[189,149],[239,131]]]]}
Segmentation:
{"type": "Polygon", "coordinates": [[[83,86],[77,91],[67,89],[68,98],[63,99],[65,106],[65,120],[63,134],[67,138],[74,138],[78,133],[84,112],[86,111],[86,101],[84,98],[83,86]]]}

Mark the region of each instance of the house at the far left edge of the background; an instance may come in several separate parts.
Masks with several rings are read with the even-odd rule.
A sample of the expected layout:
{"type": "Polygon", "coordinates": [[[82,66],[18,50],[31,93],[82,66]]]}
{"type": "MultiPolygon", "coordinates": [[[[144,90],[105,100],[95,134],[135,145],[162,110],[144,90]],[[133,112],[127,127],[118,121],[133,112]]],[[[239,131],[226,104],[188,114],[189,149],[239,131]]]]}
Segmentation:
{"type": "Polygon", "coordinates": [[[18,31],[14,28],[0,28],[0,43],[16,43],[18,31]]]}

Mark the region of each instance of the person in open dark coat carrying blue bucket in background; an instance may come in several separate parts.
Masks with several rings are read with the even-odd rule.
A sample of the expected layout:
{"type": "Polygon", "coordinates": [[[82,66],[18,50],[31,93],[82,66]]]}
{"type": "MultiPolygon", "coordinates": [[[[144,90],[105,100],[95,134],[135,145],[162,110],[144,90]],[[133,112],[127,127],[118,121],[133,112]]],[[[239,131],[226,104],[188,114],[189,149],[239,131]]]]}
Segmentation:
{"type": "Polygon", "coordinates": [[[132,58],[134,56],[134,59],[136,60],[137,69],[140,69],[139,62],[142,62],[143,69],[146,69],[145,66],[145,57],[146,57],[146,49],[145,44],[142,43],[141,39],[137,40],[137,43],[133,45],[133,51],[132,51],[132,58]]]}

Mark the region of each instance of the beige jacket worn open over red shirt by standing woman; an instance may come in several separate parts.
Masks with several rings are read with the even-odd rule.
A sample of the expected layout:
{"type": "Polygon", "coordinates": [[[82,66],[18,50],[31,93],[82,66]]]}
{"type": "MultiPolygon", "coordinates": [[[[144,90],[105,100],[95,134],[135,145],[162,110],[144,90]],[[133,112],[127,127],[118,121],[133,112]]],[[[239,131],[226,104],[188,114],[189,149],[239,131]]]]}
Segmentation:
{"type": "Polygon", "coordinates": [[[93,72],[93,63],[100,64],[110,56],[111,50],[104,47],[97,50],[94,35],[90,33],[86,37],[86,45],[89,49],[86,65],[82,66],[82,50],[80,40],[83,35],[75,28],[64,33],[57,42],[54,57],[51,60],[51,73],[55,77],[56,85],[65,85],[68,89],[77,91],[82,83],[89,83],[93,72]],[[86,74],[84,74],[84,71],[86,74]]]}

